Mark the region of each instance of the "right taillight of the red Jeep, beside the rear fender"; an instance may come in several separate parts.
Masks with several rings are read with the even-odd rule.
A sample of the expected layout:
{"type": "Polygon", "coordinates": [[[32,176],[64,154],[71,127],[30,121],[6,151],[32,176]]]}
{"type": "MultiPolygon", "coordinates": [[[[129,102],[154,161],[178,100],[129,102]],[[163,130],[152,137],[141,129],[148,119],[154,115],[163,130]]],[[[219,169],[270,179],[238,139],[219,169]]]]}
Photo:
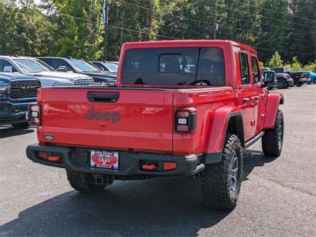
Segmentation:
{"type": "Polygon", "coordinates": [[[175,132],[192,133],[197,127],[197,109],[184,108],[176,111],[175,132]]]}

